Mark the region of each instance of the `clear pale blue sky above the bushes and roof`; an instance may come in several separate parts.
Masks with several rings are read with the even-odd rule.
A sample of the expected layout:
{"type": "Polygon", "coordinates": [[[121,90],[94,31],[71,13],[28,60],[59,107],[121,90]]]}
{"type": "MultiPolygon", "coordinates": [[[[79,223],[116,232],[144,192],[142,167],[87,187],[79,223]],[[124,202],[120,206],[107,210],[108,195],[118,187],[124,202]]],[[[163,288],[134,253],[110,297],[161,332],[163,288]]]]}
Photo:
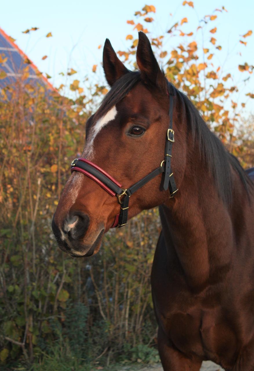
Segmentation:
{"type": "MultiPolygon", "coordinates": [[[[247,75],[238,72],[238,64],[254,62],[254,36],[246,38],[247,47],[240,45],[240,35],[253,29],[254,3],[250,0],[233,1],[194,0],[194,9],[182,6],[182,0],[162,1],[153,0],[156,14],[151,14],[155,22],[149,24],[152,35],[165,33],[175,22],[188,17],[188,23],[183,25],[184,32],[193,30],[205,14],[214,14],[215,8],[224,5],[228,13],[215,13],[218,19],[213,25],[217,26],[215,36],[222,45],[220,60],[225,63],[227,72],[232,73],[235,83],[240,83],[247,75]],[[172,16],[170,15],[172,13],[172,16]],[[239,55],[241,52],[241,56],[239,55]]],[[[81,1],[73,0],[44,0],[31,1],[14,0],[1,3],[0,27],[16,39],[17,45],[29,56],[42,72],[47,72],[52,79],[50,82],[60,83],[59,72],[66,72],[67,67],[79,71],[78,78],[91,75],[92,66],[100,65],[102,49],[98,45],[108,37],[116,50],[125,50],[129,43],[125,40],[127,34],[135,37],[137,32],[126,20],[135,21],[134,12],[141,10],[145,0],[125,1],[81,1]],[[39,27],[36,32],[25,35],[22,31],[30,27],[39,27]],[[53,37],[45,35],[52,32],[53,37]],[[42,56],[47,55],[46,60],[42,56]]],[[[210,26],[209,26],[210,27],[210,26]]],[[[254,31],[254,30],[253,30],[254,31]]],[[[211,34],[207,35],[211,37],[211,34]]],[[[181,38],[182,39],[182,38],[181,38]]],[[[179,37],[165,40],[165,50],[168,53],[178,45],[179,37]]],[[[183,40],[181,40],[183,42],[183,40]]],[[[198,40],[199,41],[199,40],[198,40]]],[[[98,71],[97,79],[103,80],[102,70],[98,71]]],[[[253,79],[252,79],[253,82],[253,79]]],[[[244,84],[243,92],[245,92],[244,84]]],[[[253,83],[252,83],[253,89],[253,83]]],[[[248,87],[248,91],[251,87],[248,87]]],[[[253,92],[253,90],[252,90],[253,92]]],[[[252,104],[248,104],[249,112],[253,112],[252,104]]]]}

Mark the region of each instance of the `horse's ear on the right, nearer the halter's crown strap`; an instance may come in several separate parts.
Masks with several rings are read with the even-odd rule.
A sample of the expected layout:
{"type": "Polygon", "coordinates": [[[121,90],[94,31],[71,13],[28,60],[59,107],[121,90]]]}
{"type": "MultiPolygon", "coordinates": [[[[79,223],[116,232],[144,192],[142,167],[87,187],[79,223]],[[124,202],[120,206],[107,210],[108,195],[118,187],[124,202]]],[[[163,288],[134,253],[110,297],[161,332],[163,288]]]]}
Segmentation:
{"type": "Polygon", "coordinates": [[[148,37],[144,32],[139,32],[138,38],[136,58],[142,78],[158,86],[166,93],[167,81],[154,56],[148,37]]]}

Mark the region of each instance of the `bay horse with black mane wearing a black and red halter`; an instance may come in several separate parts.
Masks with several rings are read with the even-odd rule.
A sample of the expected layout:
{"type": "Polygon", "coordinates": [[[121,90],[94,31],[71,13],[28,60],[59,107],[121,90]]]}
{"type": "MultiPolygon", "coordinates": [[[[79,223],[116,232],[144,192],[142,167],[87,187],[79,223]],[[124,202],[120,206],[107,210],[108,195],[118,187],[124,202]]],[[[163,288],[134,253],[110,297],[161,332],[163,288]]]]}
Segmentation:
{"type": "Polygon", "coordinates": [[[110,227],[159,206],[151,285],[164,370],[198,371],[210,359],[253,371],[253,183],[166,80],[144,33],[136,60],[131,72],[106,40],[111,89],[72,162],[52,221],[56,240],[72,256],[92,256],[110,227]]]}

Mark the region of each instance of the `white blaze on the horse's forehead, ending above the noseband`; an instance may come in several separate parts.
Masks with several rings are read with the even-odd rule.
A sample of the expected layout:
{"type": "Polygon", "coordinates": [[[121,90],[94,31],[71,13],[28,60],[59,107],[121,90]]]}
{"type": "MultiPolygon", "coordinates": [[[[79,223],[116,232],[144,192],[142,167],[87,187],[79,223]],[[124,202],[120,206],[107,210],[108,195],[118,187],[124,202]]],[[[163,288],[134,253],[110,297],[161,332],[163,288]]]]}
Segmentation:
{"type": "Polygon", "coordinates": [[[93,141],[96,137],[96,135],[99,133],[99,131],[107,125],[110,121],[112,121],[117,114],[116,106],[113,106],[103,117],[101,117],[96,124],[91,129],[91,134],[88,138],[88,143],[86,144],[86,147],[83,152],[83,157],[87,158],[88,160],[91,160],[93,157],[93,141]]]}

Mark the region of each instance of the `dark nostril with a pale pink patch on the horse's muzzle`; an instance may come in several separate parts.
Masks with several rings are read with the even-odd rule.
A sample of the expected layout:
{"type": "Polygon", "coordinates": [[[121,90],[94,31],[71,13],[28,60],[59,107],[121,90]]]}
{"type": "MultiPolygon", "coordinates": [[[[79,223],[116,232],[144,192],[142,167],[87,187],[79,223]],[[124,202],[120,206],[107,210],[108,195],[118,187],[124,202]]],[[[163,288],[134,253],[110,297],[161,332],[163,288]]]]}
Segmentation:
{"type": "Polygon", "coordinates": [[[79,239],[83,237],[88,230],[89,226],[89,216],[84,213],[73,214],[68,217],[64,224],[64,232],[73,239],[79,239]]]}

